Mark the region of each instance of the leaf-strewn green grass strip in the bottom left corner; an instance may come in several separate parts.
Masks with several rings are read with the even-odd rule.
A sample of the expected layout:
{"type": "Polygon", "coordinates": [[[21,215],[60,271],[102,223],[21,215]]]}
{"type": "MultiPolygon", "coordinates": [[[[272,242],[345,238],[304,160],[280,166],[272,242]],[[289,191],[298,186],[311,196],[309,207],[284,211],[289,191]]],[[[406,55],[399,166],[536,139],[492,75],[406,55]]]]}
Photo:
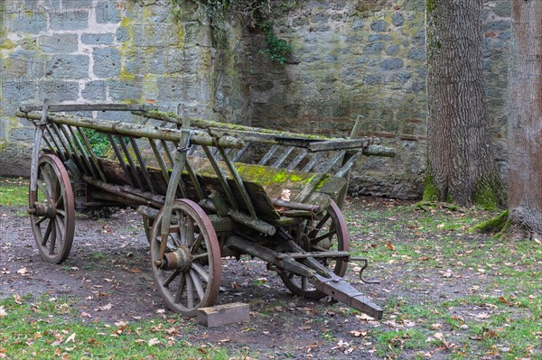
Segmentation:
{"type": "Polygon", "coordinates": [[[177,317],[123,322],[77,320],[69,299],[0,301],[0,358],[242,359],[246,351],[192,345],[192,322],[177,317]]]}

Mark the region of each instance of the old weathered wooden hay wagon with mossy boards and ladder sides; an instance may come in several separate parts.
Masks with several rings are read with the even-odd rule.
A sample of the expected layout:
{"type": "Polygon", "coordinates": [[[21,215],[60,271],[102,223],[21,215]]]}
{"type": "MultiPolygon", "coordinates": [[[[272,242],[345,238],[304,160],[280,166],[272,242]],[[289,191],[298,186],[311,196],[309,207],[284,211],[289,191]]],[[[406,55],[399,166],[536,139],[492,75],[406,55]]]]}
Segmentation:
{"type": "Polygon", "coordinates": [[[339,139],[149,106],[46,101],[16,115],[36,126],[28,212],[45,261],[68,257],[76,210],[131,206],[143,216],[154,281],[173,311],[194,316],[216,304],[222,258],[251,255],[295,295],[329,295],[382,317],[342,279],[350,261],[367,266],[350,256],[341,214],[350,168],[363,154],[393,155],[378,139],[357,138],[360,122],[339,139]]]}

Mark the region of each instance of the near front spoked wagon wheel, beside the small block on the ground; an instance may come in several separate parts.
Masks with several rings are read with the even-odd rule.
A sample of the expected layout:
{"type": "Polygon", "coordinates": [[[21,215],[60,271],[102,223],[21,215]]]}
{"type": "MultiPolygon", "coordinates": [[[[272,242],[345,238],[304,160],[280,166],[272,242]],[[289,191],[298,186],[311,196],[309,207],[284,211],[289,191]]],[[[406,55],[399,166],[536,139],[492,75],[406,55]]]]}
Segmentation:
{"type": "Polygon", "coordinates": [[[164,208],[154,219],[151,231],[151,260],[154,281],[168,307],[185,316],[212,306],[220,291],[222,268],[220,245],[207,214],[191,200],[176,200],[164,257],[160,258],[160,229],[164,208]]]}

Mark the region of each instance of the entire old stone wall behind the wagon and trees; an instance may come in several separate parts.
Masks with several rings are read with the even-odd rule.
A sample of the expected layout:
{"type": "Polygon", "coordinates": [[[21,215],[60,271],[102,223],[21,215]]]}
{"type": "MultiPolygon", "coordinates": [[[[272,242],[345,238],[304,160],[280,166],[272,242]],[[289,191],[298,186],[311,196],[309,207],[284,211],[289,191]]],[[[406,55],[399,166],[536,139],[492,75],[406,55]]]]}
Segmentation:
{"type": "MultiPolygon", "coordinates": [[[[274,0],[278,1],[278,0],[274,0]]],[[[24,103],[135,102],[221,121],[320,134],[376,134],[394,159],[365,158],[350,191],[417,198],[425,172],[424,0],[304,0],[279,15],[285,64],[237,19],[211,30],[192,1],[7,0],[0,19],[0,173],[26,174],[24,103]],[[16,161],[14,161],[16,159],[16,161]]],[[[506,173],[510,10],[485,0],[484,69],[495,156],[506,173]]]]}

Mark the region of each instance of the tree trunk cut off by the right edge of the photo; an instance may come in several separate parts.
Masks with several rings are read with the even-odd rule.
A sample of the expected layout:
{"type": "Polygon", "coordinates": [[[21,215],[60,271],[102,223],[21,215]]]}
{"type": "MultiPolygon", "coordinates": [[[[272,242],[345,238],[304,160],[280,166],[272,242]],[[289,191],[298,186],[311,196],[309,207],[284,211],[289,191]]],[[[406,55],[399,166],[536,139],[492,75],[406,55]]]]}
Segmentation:
{"type": "Polygon", "coordinates": [[[513,0],[509,220],[542,234],[542,1],[513,0]]]}

